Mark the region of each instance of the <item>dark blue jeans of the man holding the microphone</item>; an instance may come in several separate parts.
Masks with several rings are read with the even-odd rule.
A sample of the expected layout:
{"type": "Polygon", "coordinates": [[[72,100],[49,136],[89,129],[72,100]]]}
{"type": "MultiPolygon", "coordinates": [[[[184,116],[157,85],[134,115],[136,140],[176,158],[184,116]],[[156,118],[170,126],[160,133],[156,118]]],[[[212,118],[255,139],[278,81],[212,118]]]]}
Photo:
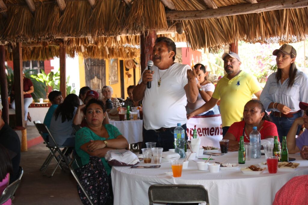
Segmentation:
{"type": "MultiPolygon", "coordinates": [[[[182,125],[184,131],[185,131],[185,139],[187,140],[187,132],[186,132],[186,124],[182,125]]],[[[175,127],[174,127],[175,128],[175,127]]],[[[142,145],[143,148],[145,148],[145,143],[147,142],[156,142],[155,147],[163,147],[163,151],[168,151],[169,149],[174,149],[174,128],[168,129],[164,132],[156,132],[154,130],[146,130],[143,128],[143,134],[144,134],[144,143],[142,145]]]]}

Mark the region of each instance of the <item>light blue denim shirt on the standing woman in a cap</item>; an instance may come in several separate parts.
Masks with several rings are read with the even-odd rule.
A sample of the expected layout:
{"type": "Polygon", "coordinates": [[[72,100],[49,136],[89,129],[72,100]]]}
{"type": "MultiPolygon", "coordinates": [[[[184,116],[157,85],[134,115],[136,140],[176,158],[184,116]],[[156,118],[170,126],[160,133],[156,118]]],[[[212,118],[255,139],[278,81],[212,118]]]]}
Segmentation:
{"type": "MultiPolygon", "coordinates": [[[[271,102],[279,102],[288,106],[291,111],[299,111],[299,102],[308,102],[308,78],[302,71],[297,70],[292,87],[288,88],[289,78],[282,84],[277,83],[276,72],[272,73],[262,90],[260,100],[266,111],[277,111],[278,109],[268,108],[271,102]]],[[[275,104],[276,107],[276,104],[275,104]]]]}

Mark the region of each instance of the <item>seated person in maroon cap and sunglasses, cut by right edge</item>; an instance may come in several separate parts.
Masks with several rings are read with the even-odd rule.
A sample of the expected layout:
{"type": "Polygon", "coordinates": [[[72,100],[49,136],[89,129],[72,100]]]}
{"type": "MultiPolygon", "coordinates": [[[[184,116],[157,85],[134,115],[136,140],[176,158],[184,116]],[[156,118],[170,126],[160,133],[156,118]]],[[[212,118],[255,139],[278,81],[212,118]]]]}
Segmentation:
{"type": "Polygon", "coordinates": [[[302,150],[304,145],[308,145],[308,103],[300,102],[299,108],[304,111],[304,115],[294,120],[288,135],[287,135],[287,147],[289,154],[295,154],[302,150]],[[298,126],[306,128],[305,131],[295,138],[298,126]]]}

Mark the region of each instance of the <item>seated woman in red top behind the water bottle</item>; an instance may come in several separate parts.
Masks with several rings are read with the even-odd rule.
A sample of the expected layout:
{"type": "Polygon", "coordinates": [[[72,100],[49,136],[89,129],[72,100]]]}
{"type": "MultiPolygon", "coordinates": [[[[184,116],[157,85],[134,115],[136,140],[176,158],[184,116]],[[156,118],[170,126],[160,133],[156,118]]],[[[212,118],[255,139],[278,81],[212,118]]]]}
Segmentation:
{"type": "Polygon", "coordinates": [[[238,151],[240,136],[244,142],[249,142],[249,134],[253,127],[261,134],[261,139],[278,136],[277,127],[265,111],[260,100],[250,100],[246,103],[243,112],[244,120],[233,123],[223,139],[229,139],[229,151],[238,151]]]}

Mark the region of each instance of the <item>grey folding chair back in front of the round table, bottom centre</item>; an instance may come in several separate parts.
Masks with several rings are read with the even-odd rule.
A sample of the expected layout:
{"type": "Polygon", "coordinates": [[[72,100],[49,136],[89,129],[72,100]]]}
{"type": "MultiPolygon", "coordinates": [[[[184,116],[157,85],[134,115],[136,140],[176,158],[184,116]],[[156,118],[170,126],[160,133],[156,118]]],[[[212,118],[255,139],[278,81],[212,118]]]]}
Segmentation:
{"type": "Polygon", "coordinates": [[[202,185],[154,184],[148,190],[150,205],[153,203],[206,203],[208,190],[202,185]]]}

